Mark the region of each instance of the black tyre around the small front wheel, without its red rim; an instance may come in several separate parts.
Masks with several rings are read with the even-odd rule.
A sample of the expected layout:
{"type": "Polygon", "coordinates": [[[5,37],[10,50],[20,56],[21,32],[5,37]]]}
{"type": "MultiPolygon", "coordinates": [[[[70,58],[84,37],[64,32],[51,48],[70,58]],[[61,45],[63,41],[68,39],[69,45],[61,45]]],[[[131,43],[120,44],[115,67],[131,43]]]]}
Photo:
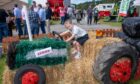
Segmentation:
{"type": "Polygon", "coordinates": [[[38,66],[33,64],[24,65],[16,72],[14,77],[14,84],[21,84],[21,77],[24,73],[28,71],[33,71],[39,76],[39,83],[38,84],[45,84],[46,83],[46,76],[44,70],[38,66]]]}

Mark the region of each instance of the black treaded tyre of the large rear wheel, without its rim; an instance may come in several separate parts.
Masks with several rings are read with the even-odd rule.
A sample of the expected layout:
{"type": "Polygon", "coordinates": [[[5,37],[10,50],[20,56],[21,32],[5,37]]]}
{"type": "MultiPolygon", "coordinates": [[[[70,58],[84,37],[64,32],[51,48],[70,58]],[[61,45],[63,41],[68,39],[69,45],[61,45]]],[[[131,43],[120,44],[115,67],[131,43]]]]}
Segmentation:
{"type": "Polygon", "coordinates": [[[138,53],[134,47],[124,42],[115,42],[102,48],[93,65],[94,77],[99,80],[101,84],[121,84],[120,82],[113,82],[110,79],[109,72],[111,66],[123,57],[129,58],[132,62],[130,79],[133,78],[137,69],[138,53]]]}

